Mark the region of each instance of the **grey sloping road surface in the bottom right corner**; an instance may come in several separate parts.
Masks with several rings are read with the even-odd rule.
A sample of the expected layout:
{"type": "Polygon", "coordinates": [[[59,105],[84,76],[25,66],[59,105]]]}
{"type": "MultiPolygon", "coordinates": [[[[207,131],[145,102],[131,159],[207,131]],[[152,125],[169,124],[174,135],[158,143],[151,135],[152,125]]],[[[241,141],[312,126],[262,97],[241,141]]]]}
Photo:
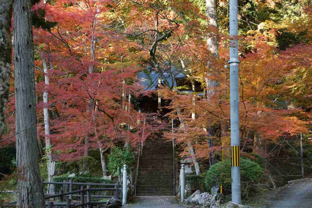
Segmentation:
{"type": "Polygon", "coordinates": [[[269,201],[267,208],[310,208],[312,207],[312,181],[301,181],[287,186],[274,199],[269,201]]]}

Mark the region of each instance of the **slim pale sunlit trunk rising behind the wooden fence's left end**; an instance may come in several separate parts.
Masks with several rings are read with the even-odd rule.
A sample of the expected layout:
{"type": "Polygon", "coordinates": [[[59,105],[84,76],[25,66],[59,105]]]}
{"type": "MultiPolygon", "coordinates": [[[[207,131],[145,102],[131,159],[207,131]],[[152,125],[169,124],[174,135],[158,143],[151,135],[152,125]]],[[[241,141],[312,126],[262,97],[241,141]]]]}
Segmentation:
{"type": "MultiPolygon", "coordinates": [[[[45,133],[45,142],[46,142],[46,153],[48,156],[48,181],[52,181],[55,172],[55,161],[53,160],[53,155],[51,151],[51,138],[50,138],[50,117],[49,117],[49,92],[48,85],[50,80],[48,77],[48,66],[46,64],[46,59],[42,56],[42,65],[44,70],[44,82],[46,84],[45,91],[43,92],[43,119],[44,119],[44,133],[45,133]]],[[[48,184],[48,193],[54,194],[54,184],[48,184]]]]}

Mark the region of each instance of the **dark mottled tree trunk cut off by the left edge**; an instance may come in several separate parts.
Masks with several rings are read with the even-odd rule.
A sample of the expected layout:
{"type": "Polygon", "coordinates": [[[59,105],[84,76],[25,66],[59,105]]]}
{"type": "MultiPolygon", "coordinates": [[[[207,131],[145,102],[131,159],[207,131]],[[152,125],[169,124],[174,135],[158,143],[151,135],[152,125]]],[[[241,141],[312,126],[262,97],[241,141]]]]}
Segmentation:
{"type": "Polygon", "coordinates": [[[0,138],[4,130],[4,114],[9,96],[12,61],[11,18],[13,0],[0,0],[0,138]]]}

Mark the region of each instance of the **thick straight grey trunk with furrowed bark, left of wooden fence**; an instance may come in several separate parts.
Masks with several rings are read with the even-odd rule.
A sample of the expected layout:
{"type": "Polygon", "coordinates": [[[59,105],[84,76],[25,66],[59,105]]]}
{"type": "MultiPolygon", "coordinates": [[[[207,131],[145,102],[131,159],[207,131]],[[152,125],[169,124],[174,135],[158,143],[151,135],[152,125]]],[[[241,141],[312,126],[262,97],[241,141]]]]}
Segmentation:
{"type": "Polygon", "coordinates": [[[15,0],[14,66],[17,168],[17,207],[45,207],[38,165],[34,51],[31,1],[15,0]]]}

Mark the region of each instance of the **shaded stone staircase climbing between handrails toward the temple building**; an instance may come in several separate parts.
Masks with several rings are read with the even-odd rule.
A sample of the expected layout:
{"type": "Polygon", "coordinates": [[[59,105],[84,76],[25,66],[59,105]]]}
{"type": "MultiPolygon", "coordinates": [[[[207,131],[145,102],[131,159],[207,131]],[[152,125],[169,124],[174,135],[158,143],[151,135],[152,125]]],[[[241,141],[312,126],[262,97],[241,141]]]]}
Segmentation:
{"type": "Polygon", "coordinates": [[[137,196],[173,196],[172,143],[147,140],[140,159],[137,196]]]}

